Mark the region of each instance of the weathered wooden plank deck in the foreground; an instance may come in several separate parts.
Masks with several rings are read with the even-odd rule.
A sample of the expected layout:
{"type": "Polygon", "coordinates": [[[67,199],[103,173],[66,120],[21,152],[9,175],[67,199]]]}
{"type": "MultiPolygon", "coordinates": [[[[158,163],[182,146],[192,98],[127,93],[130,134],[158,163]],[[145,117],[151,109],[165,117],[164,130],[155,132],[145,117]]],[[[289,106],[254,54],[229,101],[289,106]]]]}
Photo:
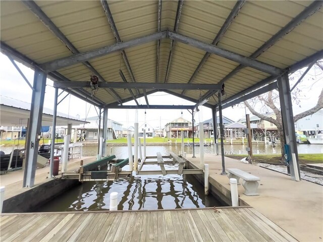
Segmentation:
{"type": "Polygon", "coordinates": [[[295,241],[251,207],[3,214],[1,241],[295,241]]]}

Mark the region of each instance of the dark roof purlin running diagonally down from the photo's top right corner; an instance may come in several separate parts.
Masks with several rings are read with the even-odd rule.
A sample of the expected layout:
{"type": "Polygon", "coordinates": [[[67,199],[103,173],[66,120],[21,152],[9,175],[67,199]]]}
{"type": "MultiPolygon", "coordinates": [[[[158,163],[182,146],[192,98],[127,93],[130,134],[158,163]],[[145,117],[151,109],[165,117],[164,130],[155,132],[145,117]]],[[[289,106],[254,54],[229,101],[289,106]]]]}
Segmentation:
{"type": "MultiPolygon", "coordinates": [[[[275,35],[268,39],[264,44],[262,44],[255,52],[253,52],[249,57],[257,58],[260,54],[265,52],[268,48],[273,46],[278,40],[291,32],[296,28],[301,22],[306,18],[318,11],[323,5],[323,1],[314,1],[311,5],[305,8],[300,14],[298,14],[294,19],[292,19],[287,25],[285,25],[281,30],[279,30],[275,35]]],[[[244,65],[239,65],[233,71],[231,71],[227,76],[225,76],[220,84],[225,83],[227,80],[232,78],[237,72],[243,69],[244,65]]],[[[211,92],[211,91],[210,91],[211,92]]]]}

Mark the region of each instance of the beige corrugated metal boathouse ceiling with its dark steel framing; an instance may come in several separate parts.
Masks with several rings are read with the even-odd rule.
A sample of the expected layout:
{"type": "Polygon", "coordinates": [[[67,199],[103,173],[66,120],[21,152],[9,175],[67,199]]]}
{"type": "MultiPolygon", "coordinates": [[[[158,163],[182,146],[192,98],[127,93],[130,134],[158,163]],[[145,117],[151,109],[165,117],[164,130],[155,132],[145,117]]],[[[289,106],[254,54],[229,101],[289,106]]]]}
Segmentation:
{"type": "MultiPolygon", "coordinates": [[[[322,1],[1,1],[1,51],[97,106],[166,91],[196,103],[208,98],[211,107],[223,84],[229,105],[323,57],[321,7],[322,1]],[[99,79],[94,92],[92,75],[99,79]]],[[[277,86],[263,90],[270,88],[277,86]]]]}

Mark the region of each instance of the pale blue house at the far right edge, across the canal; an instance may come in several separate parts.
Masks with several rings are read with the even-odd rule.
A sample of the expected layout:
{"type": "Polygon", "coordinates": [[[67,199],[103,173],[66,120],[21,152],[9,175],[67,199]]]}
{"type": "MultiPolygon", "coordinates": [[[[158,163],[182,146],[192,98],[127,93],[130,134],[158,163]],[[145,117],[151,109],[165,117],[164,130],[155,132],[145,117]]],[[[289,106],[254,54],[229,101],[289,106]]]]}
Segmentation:
{"type": "Polygon", "coordinates": [[[302,132],[303,135],[316,135],[323,130],[323,109],[312,115],[303,117],[295,123],[295,131],[302,132]]]}

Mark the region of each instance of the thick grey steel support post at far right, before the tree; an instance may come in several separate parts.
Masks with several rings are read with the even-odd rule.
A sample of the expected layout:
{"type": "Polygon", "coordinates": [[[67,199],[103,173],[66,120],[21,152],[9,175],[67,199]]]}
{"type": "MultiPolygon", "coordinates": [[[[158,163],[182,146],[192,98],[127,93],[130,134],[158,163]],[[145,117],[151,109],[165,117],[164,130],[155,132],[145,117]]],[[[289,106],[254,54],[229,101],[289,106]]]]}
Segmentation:
{"type": "Polygon", "coordinates": [[[299,171],[297,143],[296,143],[296,136],[295,136],[292,98],[291,98],[289,79],[288,79],[287,73],[285,73],[280,78],[278,78],[278,87],[279,87],[279,99],[281,104],[285,144],[289,145],[290,147],[290,154],[287,154],[287,155],[290,157],[289,165],[290,165],[291,179],[296,180],[295,173],[298,172],[298,177],[300,177],[300,171],[299,171]],[[292,161],[292,154],[295,154],[296,156],[297,167],[294,167],[294,164],[292,161]]]}

